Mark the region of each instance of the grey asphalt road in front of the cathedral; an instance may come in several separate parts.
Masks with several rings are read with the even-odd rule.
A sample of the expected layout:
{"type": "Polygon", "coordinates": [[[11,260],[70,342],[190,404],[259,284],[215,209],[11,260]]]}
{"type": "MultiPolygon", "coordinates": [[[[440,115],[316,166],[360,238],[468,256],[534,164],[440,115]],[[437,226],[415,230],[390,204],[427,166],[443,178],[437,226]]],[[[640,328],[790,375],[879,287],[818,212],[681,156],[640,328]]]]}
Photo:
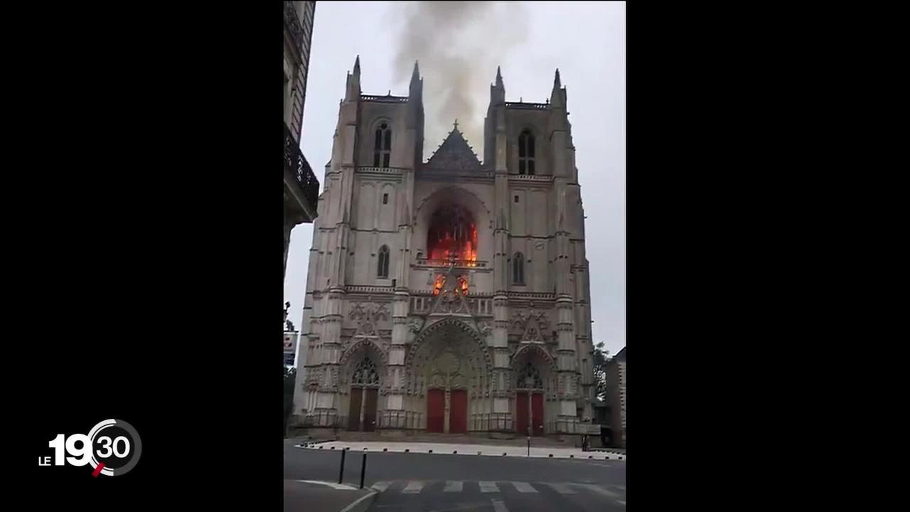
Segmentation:
{"type": "MultiPolygon", "coordinates": [[[[359,486],[362,457],[345,456],[345,484],[359,486]]],[[[340,460],[285,445],[284,477],[338,482],[340,460]]],[[[625,461],[368,452],[364,486],[381,512],[624,511],[625,461]]]]}

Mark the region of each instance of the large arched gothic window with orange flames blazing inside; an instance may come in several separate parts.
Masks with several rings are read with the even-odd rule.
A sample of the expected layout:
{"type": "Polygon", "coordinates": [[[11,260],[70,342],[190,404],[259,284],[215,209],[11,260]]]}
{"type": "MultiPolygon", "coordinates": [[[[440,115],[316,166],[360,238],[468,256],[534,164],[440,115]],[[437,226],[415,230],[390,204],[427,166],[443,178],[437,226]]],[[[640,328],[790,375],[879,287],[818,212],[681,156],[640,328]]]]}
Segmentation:
{"type": "Polygon", "coordinates": [[[477,261],[477,225],[470,211],[451,205],[433,213],[427,251],[430,260],[477,261]]]}

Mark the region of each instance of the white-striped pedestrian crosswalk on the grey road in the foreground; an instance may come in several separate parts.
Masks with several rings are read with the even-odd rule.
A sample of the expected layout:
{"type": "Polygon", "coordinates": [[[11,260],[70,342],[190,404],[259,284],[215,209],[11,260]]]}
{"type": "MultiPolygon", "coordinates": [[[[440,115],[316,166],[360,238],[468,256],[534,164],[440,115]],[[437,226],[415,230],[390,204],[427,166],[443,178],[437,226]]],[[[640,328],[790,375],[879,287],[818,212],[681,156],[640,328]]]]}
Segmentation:
{"type": "Polygon", "coordinates": [[[395,480],[376,482],[371,486],[380,493],[433,494],[443,493],[483,493],[495,495],[497,493],[518,492],[522,494],[539,494],[555,492],[560,495],[575,495],[579,490],[587,490],[601,497],[611,498],[612,501],[624,501],[617,498],[625,497],[624,486],[600,486],[575,482],[511,482],[511,481],[462,481],[462,480],[395,480]]]}

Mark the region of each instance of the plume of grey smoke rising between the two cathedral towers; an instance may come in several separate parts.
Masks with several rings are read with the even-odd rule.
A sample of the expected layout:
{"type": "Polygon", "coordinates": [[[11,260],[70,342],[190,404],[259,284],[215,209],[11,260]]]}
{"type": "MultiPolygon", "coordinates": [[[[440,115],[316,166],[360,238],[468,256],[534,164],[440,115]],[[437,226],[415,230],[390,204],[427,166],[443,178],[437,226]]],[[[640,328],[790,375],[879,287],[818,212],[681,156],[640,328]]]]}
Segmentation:
{"type": "Polygon", "coordinates": [[[520,2],[399,2],[393,4],[391,15],[398,25],[397,82],[407,84],[414,61],[420,61],[424,159],[442,143],[455,119],[482,159],[490,84],[501,60],[527,37],[525,6],[520,2]]]}

